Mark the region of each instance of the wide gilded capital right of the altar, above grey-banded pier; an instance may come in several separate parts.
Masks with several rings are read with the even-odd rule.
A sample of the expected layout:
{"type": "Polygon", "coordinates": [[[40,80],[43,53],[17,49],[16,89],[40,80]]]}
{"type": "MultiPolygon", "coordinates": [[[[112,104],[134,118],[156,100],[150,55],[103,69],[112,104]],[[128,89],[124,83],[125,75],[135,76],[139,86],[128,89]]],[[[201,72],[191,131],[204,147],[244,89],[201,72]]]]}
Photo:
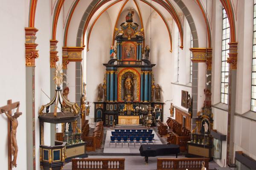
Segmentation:
{"type": "Polygon", "coordinates": [[[204,63],[207,61],[207,56],[212,53],[212,48],[190,48],[192,52],[192,62],[204,63]]]}

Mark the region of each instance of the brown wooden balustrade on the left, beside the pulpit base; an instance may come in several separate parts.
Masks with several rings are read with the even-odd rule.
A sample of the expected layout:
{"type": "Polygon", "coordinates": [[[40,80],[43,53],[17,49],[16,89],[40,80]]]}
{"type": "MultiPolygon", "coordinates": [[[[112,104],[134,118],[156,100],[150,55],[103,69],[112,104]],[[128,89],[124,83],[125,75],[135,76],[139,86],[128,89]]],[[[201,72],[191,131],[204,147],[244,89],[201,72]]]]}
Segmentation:
{"type": "Polygon", "coordinates": [[[125,158],[72,159],[72,170],[124,170],[125,158]]]}

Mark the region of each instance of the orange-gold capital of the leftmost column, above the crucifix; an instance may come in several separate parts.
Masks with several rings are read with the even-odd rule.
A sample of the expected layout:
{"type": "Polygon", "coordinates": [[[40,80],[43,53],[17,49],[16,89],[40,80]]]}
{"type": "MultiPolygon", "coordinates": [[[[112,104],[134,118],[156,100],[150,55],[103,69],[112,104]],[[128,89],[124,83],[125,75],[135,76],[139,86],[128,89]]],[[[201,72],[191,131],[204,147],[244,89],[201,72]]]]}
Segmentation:
{"type": "Polygon", "coordinates": [[[38,58],[38,50],[36,47],[38,46],[37,43],[35,43],[36,40],[36,32],[38,32],[38,29],[34,27],[26,27],[25,28],[25,57],[26,57],[26,67],[28,66],[35,66],[35,58],[38,58]]]}

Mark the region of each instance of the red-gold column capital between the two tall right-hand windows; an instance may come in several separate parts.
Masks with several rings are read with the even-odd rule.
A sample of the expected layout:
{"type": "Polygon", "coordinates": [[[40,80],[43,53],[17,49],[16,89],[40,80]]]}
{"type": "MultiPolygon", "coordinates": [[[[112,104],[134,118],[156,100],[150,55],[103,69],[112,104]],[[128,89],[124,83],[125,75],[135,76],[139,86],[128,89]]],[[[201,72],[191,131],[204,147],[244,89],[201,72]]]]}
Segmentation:
{"type": "Polygon", "coordinates": [[[228,53],[229,57],[227,58],[227,63],[230,64],[230,69],[237,68],[237,44],[238,42],[230,42],[228,45],[230,46],[228,53]]]}

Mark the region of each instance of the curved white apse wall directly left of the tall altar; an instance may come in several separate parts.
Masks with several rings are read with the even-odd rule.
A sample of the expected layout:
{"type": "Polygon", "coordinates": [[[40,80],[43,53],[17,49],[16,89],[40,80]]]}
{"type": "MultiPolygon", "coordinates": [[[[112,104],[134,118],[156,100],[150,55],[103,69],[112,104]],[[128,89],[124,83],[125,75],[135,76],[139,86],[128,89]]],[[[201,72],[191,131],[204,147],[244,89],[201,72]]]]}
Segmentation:
{"type": "MultiPolygon", "coordinates": [[[[94,117],[94,104],[97,101],[98,86],[103,82],[106,67],[103,63],[109,61],[109,50],[112,43],[112,30],[107,12],[104,12],[93,26],[90,35],[89,51],[86,54],[86,96],[90,102],[90,118],[94,117]]],[[[85,51],[84,51],[85,52],[85,51]]],[[[91,123],[91,122],[90,122],[91,123]]]]}

